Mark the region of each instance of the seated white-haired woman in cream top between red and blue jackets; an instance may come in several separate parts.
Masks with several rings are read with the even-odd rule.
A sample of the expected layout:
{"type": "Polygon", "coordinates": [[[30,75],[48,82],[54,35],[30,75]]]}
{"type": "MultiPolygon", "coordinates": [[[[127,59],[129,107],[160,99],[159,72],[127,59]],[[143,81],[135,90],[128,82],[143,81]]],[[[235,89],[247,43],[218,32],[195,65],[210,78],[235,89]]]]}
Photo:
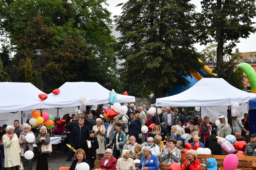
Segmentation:
{"type": "Polygon", "coordinates": [[[130,158],[130,151],[129,150],[123,150],[122,152],[122,158],[119,158],[117,160],[116,164],[117,170],[136,170],[135,164],[132,158],[130,158]]]}

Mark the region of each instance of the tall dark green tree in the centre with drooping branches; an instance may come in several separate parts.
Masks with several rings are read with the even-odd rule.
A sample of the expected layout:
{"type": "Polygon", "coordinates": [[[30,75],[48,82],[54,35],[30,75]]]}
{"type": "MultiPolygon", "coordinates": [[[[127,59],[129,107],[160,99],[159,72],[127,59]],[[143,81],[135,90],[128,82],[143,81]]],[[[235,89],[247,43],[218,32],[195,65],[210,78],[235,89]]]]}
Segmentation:
{"type": "Polygon", "coordinates": [[[125,59],[120,77],[131,95],[148,91],[161,97],[173,84],[187,84],[182,76],[200,67],[194,43],[194,8],[189,0],[129,0],[115,21],[121,37],[116,48],[125,59]],[[136,90],[137,88],[138,90],[136,90]]]}

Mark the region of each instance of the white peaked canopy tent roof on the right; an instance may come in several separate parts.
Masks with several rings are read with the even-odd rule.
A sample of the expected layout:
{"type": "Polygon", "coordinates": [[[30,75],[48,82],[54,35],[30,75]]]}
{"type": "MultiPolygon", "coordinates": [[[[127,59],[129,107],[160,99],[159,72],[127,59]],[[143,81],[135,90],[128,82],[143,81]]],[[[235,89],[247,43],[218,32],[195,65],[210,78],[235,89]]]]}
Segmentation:
{"type": "Polygon", "coordinates": [[[157,98],[156,106],[230,106],[233,102],[247,103],[253,98],[256,98],[256,94],[239,90],[223,78],[202,78],[182,93],[157,98]]]}

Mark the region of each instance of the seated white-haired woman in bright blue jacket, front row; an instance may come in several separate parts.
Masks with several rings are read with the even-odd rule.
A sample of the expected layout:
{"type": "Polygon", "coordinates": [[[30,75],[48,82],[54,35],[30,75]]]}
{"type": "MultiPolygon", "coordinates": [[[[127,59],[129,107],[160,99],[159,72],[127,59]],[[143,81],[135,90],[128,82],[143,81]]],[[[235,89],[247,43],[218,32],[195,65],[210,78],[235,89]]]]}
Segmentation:
{"type": "Polygon", "coordinates": [[[144,156],[140,159],[138,170],[158,170],[159,162],[157,156],[151,153],[150,146],[145,146],[143,148],[143,154],[144,156]]]}

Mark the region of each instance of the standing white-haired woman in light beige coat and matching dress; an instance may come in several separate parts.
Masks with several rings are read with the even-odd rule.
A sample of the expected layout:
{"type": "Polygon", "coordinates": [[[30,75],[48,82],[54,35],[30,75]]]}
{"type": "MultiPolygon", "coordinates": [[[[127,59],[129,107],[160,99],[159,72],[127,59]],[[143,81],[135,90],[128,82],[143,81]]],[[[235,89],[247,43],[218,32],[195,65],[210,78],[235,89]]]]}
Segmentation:
{"type": "Polygon", "coordinates": [[[101,161],[101,154],[105,153],[105,145],[104,145],[104,135],[105,135],[105,126],[101,125],[102,123],[102,119],[101,118],[97,118],[96,119],[96,125],[93,126],[93,130],[95,132],[95,136],[97,137],[97,140],[99,142],[99,149],[96,150],[96,159],[97,157],[99,158],[99,161],[101,161]]]}

